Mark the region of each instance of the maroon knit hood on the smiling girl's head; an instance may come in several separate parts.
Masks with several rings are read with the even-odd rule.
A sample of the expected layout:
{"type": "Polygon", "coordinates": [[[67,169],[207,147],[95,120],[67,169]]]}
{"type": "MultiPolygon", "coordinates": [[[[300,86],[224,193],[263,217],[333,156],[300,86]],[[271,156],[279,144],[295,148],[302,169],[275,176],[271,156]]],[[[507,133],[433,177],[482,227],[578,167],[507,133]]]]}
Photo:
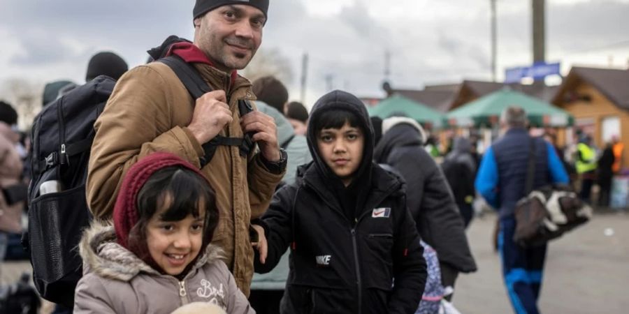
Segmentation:
{"type": "MultiPolygon", "coordinates": [[[[191,165],[178,156],[164,152],[153,153],[141,158],[129,169],[129,172],[126,173],[116,199],[113,213],[116,237],[120,245],[129,248],[129,232],[131,232],[131,228],[133,228],[140,219],[138,209],[136,208],[140,189],[157,170],[175,165],[187,167],[205,178],[201,171],[194,167],[194,165],[191,165]]],[[[207,179],[205,180],[207,181],[207,179]]]]}

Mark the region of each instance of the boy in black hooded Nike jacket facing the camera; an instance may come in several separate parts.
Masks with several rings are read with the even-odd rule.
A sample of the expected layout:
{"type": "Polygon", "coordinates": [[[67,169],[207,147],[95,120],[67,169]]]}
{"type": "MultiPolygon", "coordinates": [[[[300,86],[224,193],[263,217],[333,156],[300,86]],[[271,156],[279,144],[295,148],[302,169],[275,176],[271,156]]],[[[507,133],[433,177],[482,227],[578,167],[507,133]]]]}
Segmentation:
{"type": "Polygon", "coordinates": [[[343,91],[326,94],[307,137],[313,161],[273,196],[263,216],[268,255],[261,241],[256,272],[273,269],[290,245],[282,313],[414,313],[423,249],[403,181],[372,161],[366,107],[343,91]]]}

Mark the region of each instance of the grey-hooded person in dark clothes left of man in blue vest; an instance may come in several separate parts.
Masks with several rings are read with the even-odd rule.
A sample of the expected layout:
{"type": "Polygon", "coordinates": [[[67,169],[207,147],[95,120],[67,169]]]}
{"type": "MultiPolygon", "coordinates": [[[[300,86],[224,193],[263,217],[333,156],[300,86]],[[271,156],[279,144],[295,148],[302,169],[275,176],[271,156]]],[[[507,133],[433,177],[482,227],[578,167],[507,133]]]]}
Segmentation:
{"type": "Polygon", "coordinates": [[[441,169],[445,174],[448,184],[454,193],[454,200],[458,211],[463,217],[465,228],[470,225],[474,216],[472,202],[476,190],[474,179],[476,178],[476,160],[471,154],[472,144],[465,137],[456,137],[450,154],[447,154],[441,169]]]}

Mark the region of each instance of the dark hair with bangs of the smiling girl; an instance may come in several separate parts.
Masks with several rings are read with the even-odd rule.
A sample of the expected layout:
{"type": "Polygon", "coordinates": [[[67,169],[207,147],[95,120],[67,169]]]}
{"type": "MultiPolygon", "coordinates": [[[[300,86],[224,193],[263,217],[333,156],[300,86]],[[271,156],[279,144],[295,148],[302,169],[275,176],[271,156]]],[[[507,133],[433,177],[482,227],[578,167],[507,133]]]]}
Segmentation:
{"type": "Polygon", "coordinates": [[[201,246],[203,253],[205,247],[212,241],[218,225],[216,195],[205,178],[179,165],[157,170],[140,188],[136,198],[139,219],[129,232],[131,251],[142,260],[150,256],[146,246],[146,226],[157,210],[164,206],[166,200],[170,200],[170,204],[161,214],[160,218],[164,221],[179,221],[188,215],[198,218],[205,211],[201,246]],[[204,204],[204,208],[199,209],[199,204],[204,204]]]}

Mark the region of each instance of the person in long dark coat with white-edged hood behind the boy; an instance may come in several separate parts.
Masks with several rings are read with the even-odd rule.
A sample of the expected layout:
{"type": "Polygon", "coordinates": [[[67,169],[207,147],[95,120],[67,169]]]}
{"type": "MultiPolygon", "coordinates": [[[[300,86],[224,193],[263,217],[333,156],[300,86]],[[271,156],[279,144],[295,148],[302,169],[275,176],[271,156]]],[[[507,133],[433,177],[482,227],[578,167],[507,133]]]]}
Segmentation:
{"type": "Polygon", "coordinates": [[[454,288],[458,273],[476,271],[476,262],[448,183],[424,149],[425,139],[424,129],[413,119],[384,119],[374,159],[403,175],[408,185],[408,208],[417,230],[437,251],[444,287],[454,288]]]}

